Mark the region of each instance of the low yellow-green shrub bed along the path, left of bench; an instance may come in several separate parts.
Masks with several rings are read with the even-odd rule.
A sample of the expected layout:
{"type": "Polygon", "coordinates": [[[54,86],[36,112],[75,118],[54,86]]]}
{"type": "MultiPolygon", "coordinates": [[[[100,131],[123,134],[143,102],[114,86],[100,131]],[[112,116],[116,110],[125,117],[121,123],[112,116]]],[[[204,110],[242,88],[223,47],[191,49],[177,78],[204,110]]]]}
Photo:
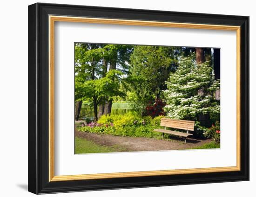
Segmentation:
{"type": "Polygon", "coordinates": [[[160,128],[160,116],[152,119],[150,116],[141,117],[129,112],[126,115],[103,115],[97,123],[99,126],[79,127],[78,130],[116,136],[162,138],[161,133],[153,132],[155,128],[160,128]]]}

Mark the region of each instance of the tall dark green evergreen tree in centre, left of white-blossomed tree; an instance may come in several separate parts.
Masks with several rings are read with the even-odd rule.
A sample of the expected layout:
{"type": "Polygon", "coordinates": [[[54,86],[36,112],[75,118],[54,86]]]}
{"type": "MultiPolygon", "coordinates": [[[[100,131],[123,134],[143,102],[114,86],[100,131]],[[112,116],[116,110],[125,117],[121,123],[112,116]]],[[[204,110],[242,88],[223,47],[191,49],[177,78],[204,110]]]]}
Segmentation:
{"type": "Polygon", "coordinates": [[[130,84],[135,92],[135,109],[143,112],[149,102],[162,97],[164,83],[174,71],[180,47],[136,45],[131,55],[130,84]]]}

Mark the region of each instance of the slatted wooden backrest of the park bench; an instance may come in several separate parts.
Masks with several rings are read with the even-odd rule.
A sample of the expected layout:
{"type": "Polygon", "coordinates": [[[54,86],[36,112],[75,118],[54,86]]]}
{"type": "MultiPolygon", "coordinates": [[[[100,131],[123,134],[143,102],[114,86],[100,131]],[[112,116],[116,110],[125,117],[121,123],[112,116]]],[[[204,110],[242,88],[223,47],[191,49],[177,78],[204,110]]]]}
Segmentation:
{"type": "Polygon", "coordinates": [[[176,120],[170,118],[162,118],[160,126],[184,129],[188,131],[194,131],[195,121],[176,120]]]}

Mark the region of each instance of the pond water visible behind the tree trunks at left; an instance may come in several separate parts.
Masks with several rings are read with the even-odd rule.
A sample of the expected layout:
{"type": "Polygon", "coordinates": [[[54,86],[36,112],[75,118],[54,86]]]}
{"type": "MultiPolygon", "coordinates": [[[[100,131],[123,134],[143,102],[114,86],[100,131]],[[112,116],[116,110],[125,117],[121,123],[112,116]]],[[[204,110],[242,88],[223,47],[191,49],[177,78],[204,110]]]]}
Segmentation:
{"type": "MultiPolygon", "coordinates": [[[[131,102],[114,102],[112,103],[111,114],[123,115],[128,113],[129,111],[133,111],[131,105],[131,102]]],[[[89,118],[91,120],[94,119],[93,106],[91,106],[88,102],[82,104],[79,119],[85,120],[86,118],[89,118]]]]}

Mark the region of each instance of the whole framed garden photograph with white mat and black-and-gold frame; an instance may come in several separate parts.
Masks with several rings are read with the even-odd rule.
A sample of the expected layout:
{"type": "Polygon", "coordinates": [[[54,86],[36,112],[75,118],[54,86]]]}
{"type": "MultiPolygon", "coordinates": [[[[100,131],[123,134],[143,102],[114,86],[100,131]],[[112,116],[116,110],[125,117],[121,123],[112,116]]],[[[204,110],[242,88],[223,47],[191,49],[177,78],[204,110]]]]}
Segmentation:
{"type": "Polygon", "coordinates": [[[28,191],[249,180],[249,17],[28,6],[28,191]]]}

